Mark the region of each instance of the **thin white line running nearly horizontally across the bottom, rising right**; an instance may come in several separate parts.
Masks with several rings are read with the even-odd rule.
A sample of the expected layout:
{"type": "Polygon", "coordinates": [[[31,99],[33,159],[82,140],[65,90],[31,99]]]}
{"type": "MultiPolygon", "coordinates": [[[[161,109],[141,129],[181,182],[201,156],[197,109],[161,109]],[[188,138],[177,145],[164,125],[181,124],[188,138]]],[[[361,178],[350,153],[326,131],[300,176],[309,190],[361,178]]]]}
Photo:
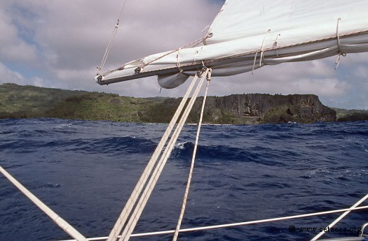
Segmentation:
{"type": "MultiPolygon", "coordinates": [[[[221,224],[221,225],[203,226],[203,227],[197,227],[197,228],[184,228],[184,229],[179,230],[179,232],[182,233],[182,232],[210,230],[210,229],[216,229],[216,228],[231,228],[231,227],[236,227],[236,226],[245,226],[245,225],[250,225],[250,224],[263,224],[263,223],[268,223],[272,221],[284,221],[288,219],[301,219],[304,217],[314,217],[314,216],[321,216],[321,215],[326,215],[326,214],[334,214],[334,213],[346,212],[346,211],[357,211],[357,210],[364,210],[364,209],[368,209],[368,206],[345,208],[341,210],[331,210],[331,211],[325,211],[325,212],[313,212],[309,214],[299,214],[299,215],[278,217],[278,218],[272,218],[272,219],[261,219],[261,220],[256,220],[256,221],[244,221],[244,222],[233,223],[233,224],[221,224]]],[[[157,232],[149,232],[149,233],[134,233],[131,235],[131,237],[154,236],[154,235],[164,235],[164,234],[171,234],[171,233],[175,233],[175,230],[157,231],[157,232]]],[[[87,240],[106,240],[106,238],[107,237],[88,238],[87,240]]],[[[62,240],[62,241],[76,241],[76,240],[62,240]]]]}

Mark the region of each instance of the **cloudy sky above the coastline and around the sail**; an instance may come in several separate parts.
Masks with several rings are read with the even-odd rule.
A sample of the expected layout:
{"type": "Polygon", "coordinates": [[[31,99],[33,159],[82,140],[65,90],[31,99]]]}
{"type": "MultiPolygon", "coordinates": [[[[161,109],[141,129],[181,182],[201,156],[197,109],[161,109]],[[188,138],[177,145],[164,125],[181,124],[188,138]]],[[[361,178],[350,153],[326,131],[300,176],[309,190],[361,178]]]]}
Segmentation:
{"type": "MultiPolygon", "coordinates": [[[[183,96],[187,81],[162,89],[155,77],[100,86],[93,78],[124,0],[0,1],[0,84],[36,85],[116,93],[121,96],[183,96]]],[[[204,35],[221,0],[127,0],[105,68],[156,52],[174,50],[204,35]]],[[[368,109],[368,53],[265,66],[215,77],[210,96],[316,94],[329,107],[368,109]]]]}

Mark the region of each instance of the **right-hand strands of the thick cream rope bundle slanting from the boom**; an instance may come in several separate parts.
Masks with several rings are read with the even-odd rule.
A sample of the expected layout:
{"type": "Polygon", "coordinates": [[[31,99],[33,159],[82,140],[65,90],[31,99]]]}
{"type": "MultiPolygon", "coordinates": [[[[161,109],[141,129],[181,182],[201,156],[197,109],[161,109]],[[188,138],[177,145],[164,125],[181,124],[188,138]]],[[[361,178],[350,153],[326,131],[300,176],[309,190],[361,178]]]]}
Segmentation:
{"type": "Polygon", "coordinates": [[[200,87],[203,85],[203,81],[206,78],[208,71],[209,71],[208,68],[206,68],[204,73],[202,73],[202,78],[200,79],[200,82],[198,83],[196,90],[193,92],[191,100],[189,101],[188,105],[184,110],[184,113],[179,121],[179,124],[177,124],[177,128],[172,134],[168,146],[165,148],[165,151],[163,152],[160,161],[158,161],[157,167],[154,170],[154,174],[151,175],[149,183],[147,184],[146,189],[144,189],[144,193],[142,193],[142,196],[139,199],[139,202],[137,203],[137,207],[132,213],[132,216],[130,217],[128,224],[125,226],[123,233],[121,233],[121,238],[119,239],[119,241],[129,240],[130,235],[132,234],[132,231],[134,230],[137,221],[144,210],[144,207],[149,199],[149,196],[151,196],[151,193],[156,185],[156,182],[158,181],[158,177],[160,177],[163,167],[165,166],[166,161],[168,161],[168,158],[170,157],[171,151],[177,141],[177,138],[179,137],[179,134],[182,131],[182,128],[186,122],[186,119],[189,116],[189,112],[191,111],[191,108],[193,108],[194,101],[196,101],[196,98],[200,91],[200,87]]]}

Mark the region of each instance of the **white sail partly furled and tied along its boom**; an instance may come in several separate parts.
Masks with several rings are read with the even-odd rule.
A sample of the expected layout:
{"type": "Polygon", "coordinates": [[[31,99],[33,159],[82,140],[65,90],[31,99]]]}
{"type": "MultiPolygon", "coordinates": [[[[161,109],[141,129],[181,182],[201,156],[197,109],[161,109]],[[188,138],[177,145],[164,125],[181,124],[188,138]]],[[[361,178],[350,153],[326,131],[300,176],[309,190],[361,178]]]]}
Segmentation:
{"type": "Polygon", "coordinates": [[[181,85],[201,66],[212,76],[265,65],[368,52],[367,0],[227,0],[203,46],[153,54],[97,75],[100,85],[158,75],[181,85]]]}

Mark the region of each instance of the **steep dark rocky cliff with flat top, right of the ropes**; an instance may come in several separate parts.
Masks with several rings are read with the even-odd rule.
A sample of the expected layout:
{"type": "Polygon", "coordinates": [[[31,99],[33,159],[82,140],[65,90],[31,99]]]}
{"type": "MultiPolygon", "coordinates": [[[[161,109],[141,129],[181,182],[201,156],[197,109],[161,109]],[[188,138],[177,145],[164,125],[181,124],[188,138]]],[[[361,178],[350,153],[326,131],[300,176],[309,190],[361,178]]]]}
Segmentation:
{"type": "MultiPolygon", "coordinates": [[[[199,115],[199,111],[196,103],[194,112],[199,115]]],[[[233,94],[207,98],[205,120],[233,124],[334,122],[336,112],[312,94],[233,94]]]]}

